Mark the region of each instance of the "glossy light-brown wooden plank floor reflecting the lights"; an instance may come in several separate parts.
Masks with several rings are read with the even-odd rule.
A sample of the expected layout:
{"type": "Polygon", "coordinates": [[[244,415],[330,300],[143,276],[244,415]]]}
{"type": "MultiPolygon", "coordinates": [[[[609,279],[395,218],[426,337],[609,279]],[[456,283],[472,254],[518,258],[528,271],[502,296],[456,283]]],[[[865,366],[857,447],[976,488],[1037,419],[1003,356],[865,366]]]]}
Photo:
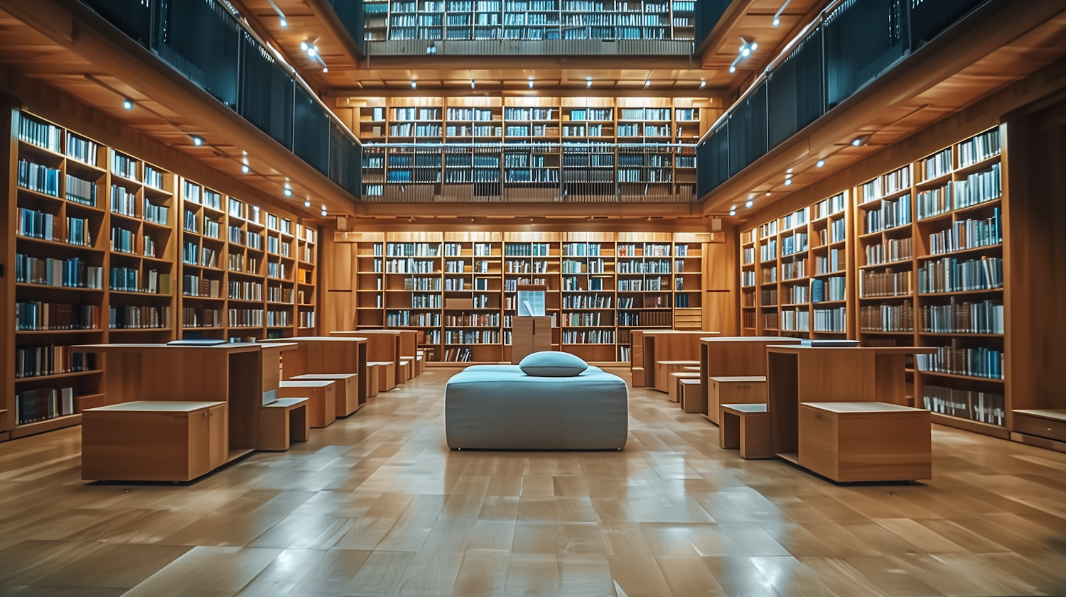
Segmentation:
{"type": "Polygon", "coordinates": [[[643,389],[623,452],[450,452],[453,371],[183,486],[0,444],[0,595],[1066,595],[1066,454],[937,427],[932,482],[839,486],[643,389]]]}

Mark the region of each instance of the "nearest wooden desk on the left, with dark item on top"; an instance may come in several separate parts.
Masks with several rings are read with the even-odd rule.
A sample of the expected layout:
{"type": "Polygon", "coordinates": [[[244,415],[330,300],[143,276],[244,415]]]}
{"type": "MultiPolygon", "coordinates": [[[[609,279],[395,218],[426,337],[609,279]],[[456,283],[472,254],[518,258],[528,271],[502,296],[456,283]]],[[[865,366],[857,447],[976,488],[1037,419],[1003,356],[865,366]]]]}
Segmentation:
{"type": "Polygon", "coordinates": [[[259,410],[276,399],[280,354],[295,345],[87,344],[71,348],[103,356],[102,391],[111,404],[225,402],[229,462],[259,448],[259,410]]]}

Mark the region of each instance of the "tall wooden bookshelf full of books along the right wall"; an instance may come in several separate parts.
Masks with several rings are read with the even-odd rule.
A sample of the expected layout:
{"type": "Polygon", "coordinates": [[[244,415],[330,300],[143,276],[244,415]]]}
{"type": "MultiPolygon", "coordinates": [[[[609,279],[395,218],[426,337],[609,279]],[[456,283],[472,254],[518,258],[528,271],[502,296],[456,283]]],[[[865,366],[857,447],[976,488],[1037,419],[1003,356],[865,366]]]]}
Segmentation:
{"type": "Polygon", "coordinates": [[[1005,437],[1010,280],[1003,268],[1007,198],[1000,134],[999,128],[985,131],[866,181],[849,192],[851,200],[834,198],[823,219],[819,205],[824,202],[809,208],[806,253],[789,254],[782,244],[804,228],[795,218],[803,211],[743,231],[744,333],[831,337],[814,329],[794,330],[782,315],[793,305],[798,309],[795,299],[803,291],[794,288],[808,279],[780,275],[790,264],[811,260],[811,283],[820,276],[845,278],[840,304],[846,306],[846,333],[833,334],[863,346],[937,348],[937,354],[908,362],[915,404],[931,410],[937,422],[1005,437]],[[835,231],[838,219],[850,220],[843,239],[835,231]],[[838,260],[850,259],[854,267],[840,261],[837,272],[824,273],[819,260],[828,258],[822,263],[831,265],[835,249],[841,250],[838,260]]]}

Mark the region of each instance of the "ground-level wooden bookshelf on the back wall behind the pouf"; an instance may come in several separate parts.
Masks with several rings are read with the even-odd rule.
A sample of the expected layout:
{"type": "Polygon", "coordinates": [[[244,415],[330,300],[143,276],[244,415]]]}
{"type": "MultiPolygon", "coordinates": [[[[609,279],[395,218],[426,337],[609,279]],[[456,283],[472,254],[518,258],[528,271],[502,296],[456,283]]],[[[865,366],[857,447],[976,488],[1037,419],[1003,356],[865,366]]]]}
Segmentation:
{"type": "Polygon", "coordinates": [[[547,286],[552,344],[629,359],[634,329],[701,329],[707,234],[358,233],[355,325],[422,332],[438,361],[511,359],[520,284],[547,286]]]}

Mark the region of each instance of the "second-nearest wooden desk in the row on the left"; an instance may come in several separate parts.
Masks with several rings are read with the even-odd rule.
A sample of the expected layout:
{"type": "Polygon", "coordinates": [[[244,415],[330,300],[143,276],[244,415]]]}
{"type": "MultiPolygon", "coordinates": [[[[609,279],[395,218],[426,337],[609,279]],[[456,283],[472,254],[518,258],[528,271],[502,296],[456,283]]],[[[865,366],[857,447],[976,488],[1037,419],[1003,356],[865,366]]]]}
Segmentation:
{"type": "MultiPolygon", "coordinates": [[[[285,355],[281,379],[290,380],[308,374],[356,374],[359,376],[358,404],[367,403],[371,396],[370,376],[367,375],[367,346],[365,337],[302,336],[276,341],[294,344],[295,350],[285,355]]],[[[272,344],[264,342],[263,345],[272,344]]],[[[352,412],[355,412],[354,410],[352,412]]],[[[338,413],[348,416],[352,412],[338,413]]]]}

